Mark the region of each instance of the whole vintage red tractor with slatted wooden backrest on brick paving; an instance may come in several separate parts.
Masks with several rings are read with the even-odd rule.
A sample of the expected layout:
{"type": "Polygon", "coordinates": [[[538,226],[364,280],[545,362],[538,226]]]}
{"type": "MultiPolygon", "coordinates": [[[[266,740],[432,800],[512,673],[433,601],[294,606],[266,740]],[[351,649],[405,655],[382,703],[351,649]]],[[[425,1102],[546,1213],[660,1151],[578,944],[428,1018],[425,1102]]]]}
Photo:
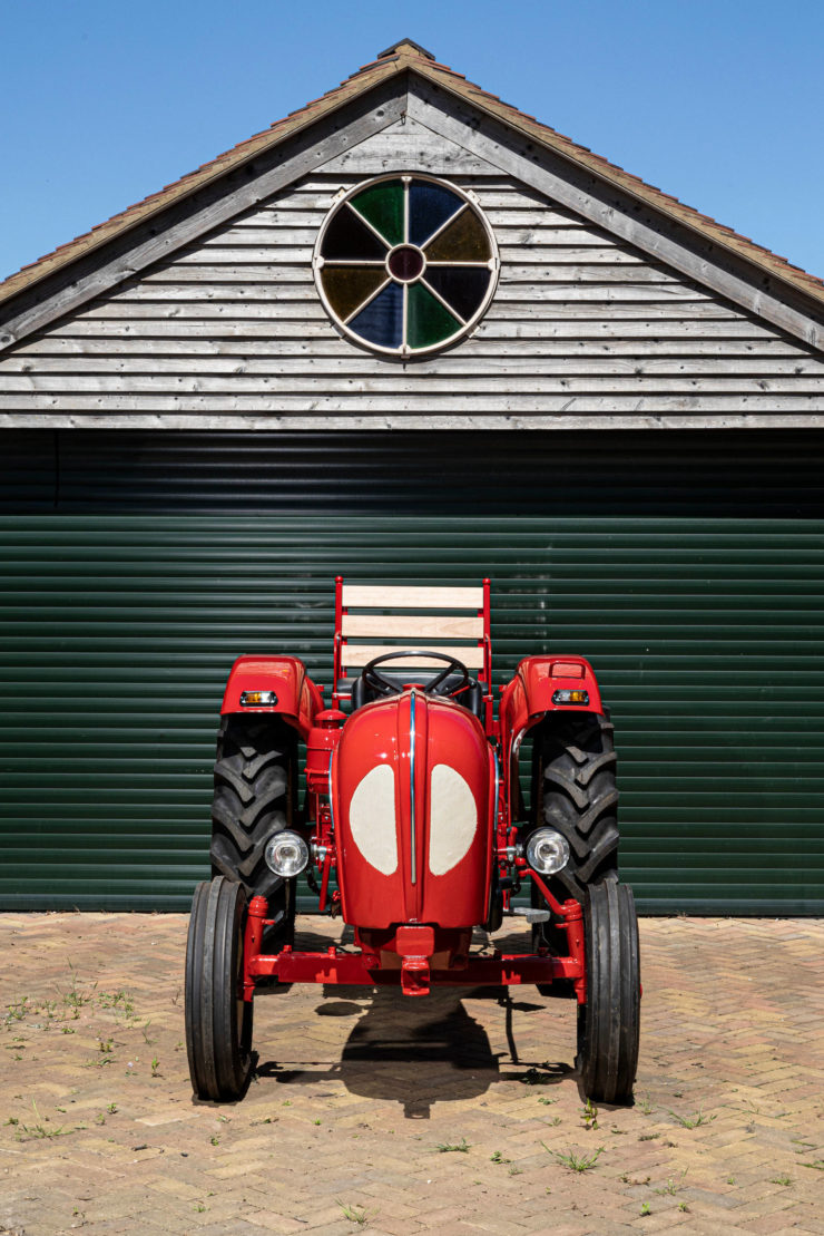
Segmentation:
{"type": "Polygon", "coordinates": [[[577,1001],[584,1094],[630,1101],[637,921],[618,883],[613,727],[592,666],[525,658],[495,717],[488,580],[423,588],[338,577],[335,597],[331,707],[294,656],[241,656],[226,686],[212,879],[195,890],[187,947],[195,1095],[245,1093],[253,997],[267,985],[393,984],[426,996],[531,983],[577,1001]],[[353,927],[356,949],[295,948],[301,875],[319,912],[353,927]],[[526,889],[530,905],[515,904],[526,889]],[[473,947],[474,928],[492,933],[515,915],[531,926],[528,950],[473,947]]]}

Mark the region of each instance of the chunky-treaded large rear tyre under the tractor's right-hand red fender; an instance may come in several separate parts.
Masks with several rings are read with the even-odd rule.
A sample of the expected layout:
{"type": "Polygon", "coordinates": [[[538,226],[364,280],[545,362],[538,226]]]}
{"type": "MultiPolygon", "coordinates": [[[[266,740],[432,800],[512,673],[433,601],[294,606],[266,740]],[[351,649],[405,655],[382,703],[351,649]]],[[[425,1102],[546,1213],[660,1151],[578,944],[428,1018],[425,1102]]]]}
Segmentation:
{"type": "Polygon", "coordinates": [[[618,790],[613,726],[595,713],[555,713],[535,740],[534,819],[570,843],[553,876],[567,896],[618,873],[618,790]]]}

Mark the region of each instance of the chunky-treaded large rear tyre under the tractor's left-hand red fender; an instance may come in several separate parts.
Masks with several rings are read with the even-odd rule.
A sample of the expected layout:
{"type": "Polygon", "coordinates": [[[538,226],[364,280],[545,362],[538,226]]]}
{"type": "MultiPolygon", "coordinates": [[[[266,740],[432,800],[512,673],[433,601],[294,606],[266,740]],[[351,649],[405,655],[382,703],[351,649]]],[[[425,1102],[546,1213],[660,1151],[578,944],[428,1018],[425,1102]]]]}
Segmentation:
{"type": "Polygon", "coordinates": [[[250,899],[267,897],[275,926],[267,947],[290,944],[295,881],[274,875],[263,858],[273,833],[292,826],[298,780],[298,735],[279,717],[221,719],[211,808],[211,874],[240,881],[250,899]]]}

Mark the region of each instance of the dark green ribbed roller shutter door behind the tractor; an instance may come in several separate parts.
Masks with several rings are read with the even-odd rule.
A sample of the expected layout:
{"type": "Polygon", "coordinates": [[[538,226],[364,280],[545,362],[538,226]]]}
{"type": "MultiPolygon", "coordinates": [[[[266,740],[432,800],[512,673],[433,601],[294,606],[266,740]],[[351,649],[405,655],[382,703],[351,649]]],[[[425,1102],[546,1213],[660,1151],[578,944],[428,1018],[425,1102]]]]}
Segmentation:
{"type": "Polygon", "coordinates": [[[240,653],[331,674],[332,580],[493,581],[581,653],[647,912],[820,913],[824,509],[803,434],[10,435],[0,906],[185,908],[240,653]]]}

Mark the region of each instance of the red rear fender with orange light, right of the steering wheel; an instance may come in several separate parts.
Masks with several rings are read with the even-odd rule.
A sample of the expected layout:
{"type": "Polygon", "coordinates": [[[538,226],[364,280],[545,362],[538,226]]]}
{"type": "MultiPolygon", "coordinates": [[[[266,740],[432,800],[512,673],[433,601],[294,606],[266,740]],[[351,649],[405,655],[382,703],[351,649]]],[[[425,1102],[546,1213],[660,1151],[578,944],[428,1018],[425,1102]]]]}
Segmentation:
{"type": "Polygon", "coordinates": [[[509,760],[528,729],[551,712],[602,713],[595,671],[583,656],[525,656],[500,697],[500,737],[509,760]],[[557,691],[586,691],[587,703],[558,703],[557,691]]]}

